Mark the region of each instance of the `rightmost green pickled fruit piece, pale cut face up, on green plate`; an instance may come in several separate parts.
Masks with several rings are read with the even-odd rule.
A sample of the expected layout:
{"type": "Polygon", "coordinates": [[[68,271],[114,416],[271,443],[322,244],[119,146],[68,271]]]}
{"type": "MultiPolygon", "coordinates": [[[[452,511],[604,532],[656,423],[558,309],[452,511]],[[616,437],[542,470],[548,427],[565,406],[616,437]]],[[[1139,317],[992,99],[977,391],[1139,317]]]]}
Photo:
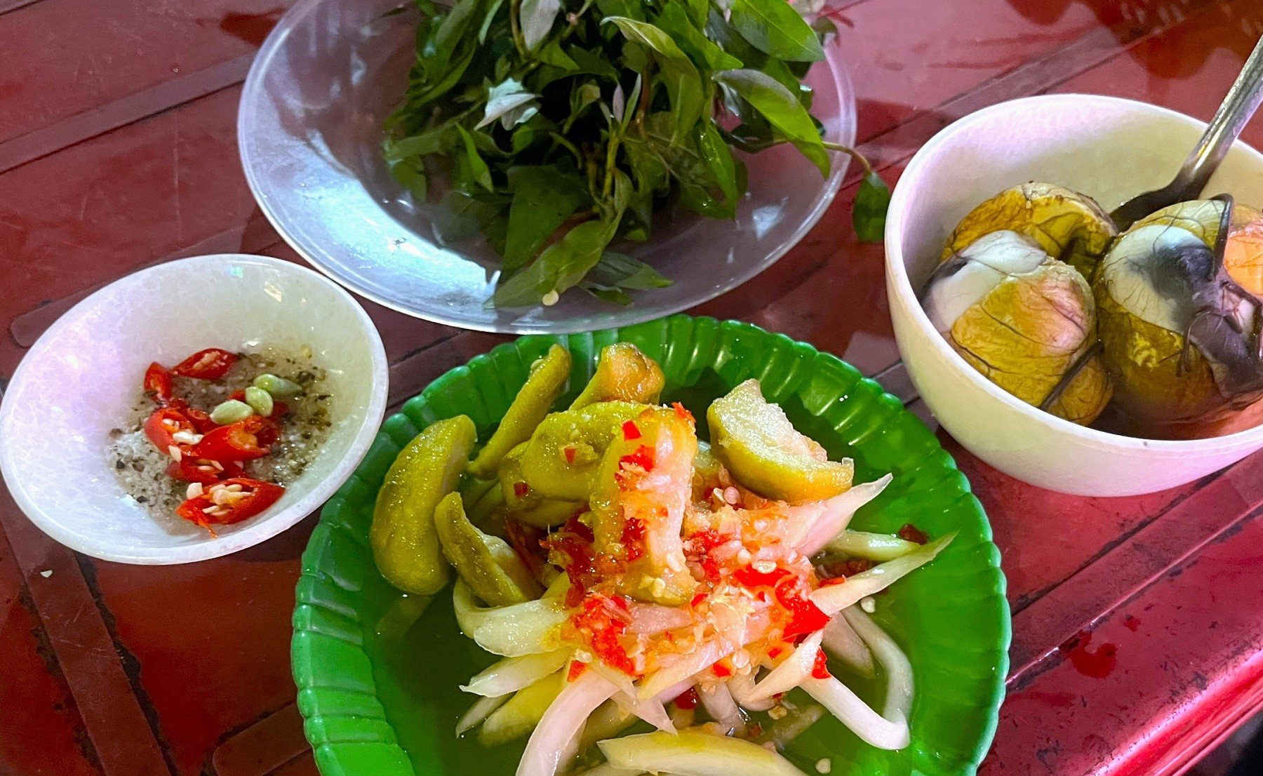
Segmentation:
{"type": "Polygon", "coordinates": [[[829,460],[825,449],[799,433],[784,411],[746,380],[706,411],[711,442],[734,479],[759,495],[789,503],[831,498],[851,487],[850,459],[829,460]]]}

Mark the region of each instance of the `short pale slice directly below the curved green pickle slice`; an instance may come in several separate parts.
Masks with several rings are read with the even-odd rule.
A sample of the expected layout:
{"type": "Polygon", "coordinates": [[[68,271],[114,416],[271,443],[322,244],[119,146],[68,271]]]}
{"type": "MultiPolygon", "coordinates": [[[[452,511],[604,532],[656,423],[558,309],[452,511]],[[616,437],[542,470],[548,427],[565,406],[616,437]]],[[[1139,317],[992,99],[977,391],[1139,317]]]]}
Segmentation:
{"type": "Polygon", "coordinates": [[[565,602],[556,598],[481,608],[474,591],[461,580],[456,580],[452,589],[452,603],[461,631],[488,652],[505,657],[556,650],[567,618],[565,602]]]}

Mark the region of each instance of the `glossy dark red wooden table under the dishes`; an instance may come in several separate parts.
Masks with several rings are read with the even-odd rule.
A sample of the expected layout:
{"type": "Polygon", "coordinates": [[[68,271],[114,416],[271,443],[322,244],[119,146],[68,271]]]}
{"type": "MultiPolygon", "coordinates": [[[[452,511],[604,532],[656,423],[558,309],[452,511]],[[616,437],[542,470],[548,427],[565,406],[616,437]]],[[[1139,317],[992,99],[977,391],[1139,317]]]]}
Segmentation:
{"type": "MultiPolygon", "coordinates": [[[[216,252],[296,259],[246,190],[240,83],[288,0],[0,0],[0,387],[85,292],[216,252]]],[[[892,183],[949,121],[1048,91],[1209,119],[1258,0],[847,0],[861,150],[892,183]]],[[[1245,131],[1263,147],[1263,121],[1245,131]]],[[[897,365],[882,249],[854,186],[758,283],[696,312],[850,360],[928,418],[897,365]]],[[[392,401],[496,340],[365,303],[392,401]]],[[[945,437],[986,507],[1013,605],[988,775],[1178,773],[1263,708],[1263,455],[1143,498],[1017,483],[945,437]]],[[[314,773],[289,677],[314,518],[176,567],[52,542],[0,488],[0,773],[314,773]]]]}

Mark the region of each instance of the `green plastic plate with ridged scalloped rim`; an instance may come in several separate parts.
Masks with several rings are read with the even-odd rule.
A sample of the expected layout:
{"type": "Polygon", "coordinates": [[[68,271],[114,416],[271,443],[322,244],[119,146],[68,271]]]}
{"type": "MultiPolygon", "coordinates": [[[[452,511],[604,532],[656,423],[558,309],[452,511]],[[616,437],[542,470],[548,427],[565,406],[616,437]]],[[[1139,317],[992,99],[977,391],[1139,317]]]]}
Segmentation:
{"type": "MultiPolygon", "coordinates": [[[[610,331],[528,336],[457,367],[392,416],[355,475],[321,513],[303,554],[294,609],[293,669],[307,738],[325,776],[512,776],[523,744],[485,748],[453,727],[470,696],[457,685],[494,658],[456,628],[450,593],[432,605],[400,597],[369,550],[373,503],[395,455],[421,428],[465,413],[490,432],[552,343],[573,354],[571,393],[587,382],[605,345],[635,343],[667,374],[664,401],[692,411],[705,437],[706,407],[758,378],[831,458],[855,459],[858,482],[894,482],[853,526],[931,536],[959,531],[930,566],[878,597],[874,615],[903,646],[916,676],[912,743],[898,752],[860,742],[827,717],[787,756],[807,773],[829,758],[832,776],[973,773],[995,733],[1008,671],[1009,609],[991,530],[969,482],[937,439],[895,397],[853,367],[787,336],[735,321],[672,316],[610,331]]],[[[873,681],[839,676],[870,704],[873,681]]],[[[878,706],[879,708],[879,706],[878,706]]]]}

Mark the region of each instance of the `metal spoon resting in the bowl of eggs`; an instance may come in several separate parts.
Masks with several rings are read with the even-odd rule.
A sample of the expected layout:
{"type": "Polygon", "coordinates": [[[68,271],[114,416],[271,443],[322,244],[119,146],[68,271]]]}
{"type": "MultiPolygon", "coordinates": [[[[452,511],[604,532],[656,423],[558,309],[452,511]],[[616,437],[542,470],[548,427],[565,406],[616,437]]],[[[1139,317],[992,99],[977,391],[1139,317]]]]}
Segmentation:
{"type": "Polygon", "coordinates": [[[1263,39],[1254,45],[1240,75],[1236,76],[1236,82],[1228,90],[1228,96],[1215,111],[1206,133],[1197,140],[1197,145],[1185,159],[1175,179],[1157,191],[1128,200],[1109,214],[1119,230],[1168,205],[1196,200],[1206,187],[1206,181],[1224,161],[1224,154],[1242,134],[1245,123],[1254,115],[1259,102],[1263,102],[1263,39]]]}

